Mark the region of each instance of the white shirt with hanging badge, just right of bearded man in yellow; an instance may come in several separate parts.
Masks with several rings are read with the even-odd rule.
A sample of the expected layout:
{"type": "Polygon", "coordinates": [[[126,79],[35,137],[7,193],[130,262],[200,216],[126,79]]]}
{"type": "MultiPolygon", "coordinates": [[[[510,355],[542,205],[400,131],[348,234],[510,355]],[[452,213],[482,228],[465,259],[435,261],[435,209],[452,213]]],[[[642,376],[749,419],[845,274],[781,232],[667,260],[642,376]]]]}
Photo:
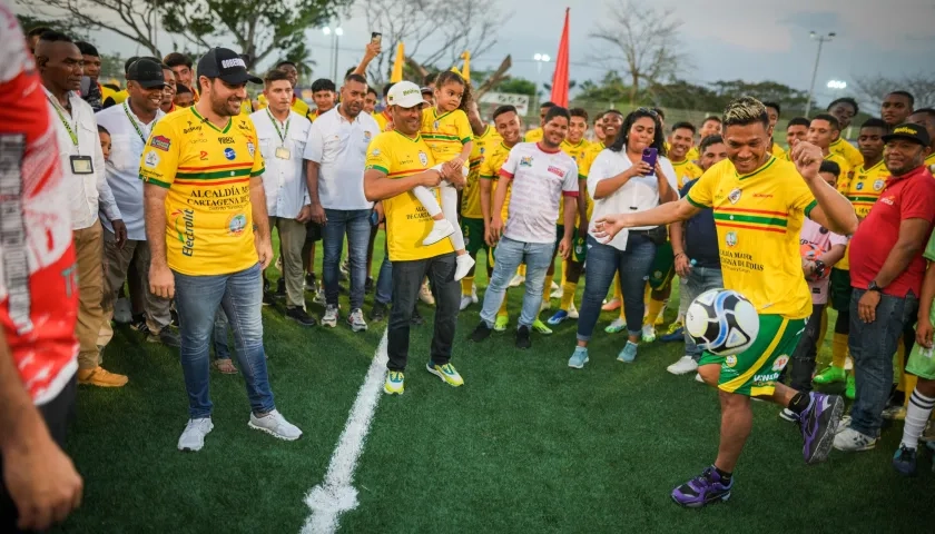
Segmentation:
{"type": "Polygon", "coordinates": [[[285,122],[279,122],[268,108],[250,115],[259,151],[266,162],[263,188],[266,190],[266,211],[269,217],[294,219],[308,202],[305,182],[305,142],[312,122],[289,110],[285,122]],[[275,121],[275,123],[274,123],[275,121]]]}

